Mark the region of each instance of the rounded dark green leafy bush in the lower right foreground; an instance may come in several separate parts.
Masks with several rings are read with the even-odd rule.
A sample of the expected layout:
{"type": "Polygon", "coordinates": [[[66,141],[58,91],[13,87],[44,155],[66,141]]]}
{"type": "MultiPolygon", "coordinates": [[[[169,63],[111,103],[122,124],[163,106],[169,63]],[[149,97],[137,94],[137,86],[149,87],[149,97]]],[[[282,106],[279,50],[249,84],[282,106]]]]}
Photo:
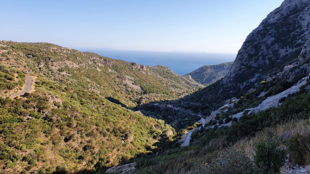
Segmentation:
{"type": "Polygon", "coordinates": [[[286,160],[287,150],[279,147],[277,141],[263,140],[254,146],[254,162],[258,165],[265,165],[267,169],[279,172],[286,160]]]}

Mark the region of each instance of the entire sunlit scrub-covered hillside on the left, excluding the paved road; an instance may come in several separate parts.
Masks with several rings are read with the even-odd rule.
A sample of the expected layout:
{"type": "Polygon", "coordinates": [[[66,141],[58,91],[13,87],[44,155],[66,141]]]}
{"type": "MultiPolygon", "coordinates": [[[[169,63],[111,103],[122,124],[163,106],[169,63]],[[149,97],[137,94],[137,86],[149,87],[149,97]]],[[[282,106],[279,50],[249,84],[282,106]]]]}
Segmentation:
{"type": "Polygon", "coordinates": [[[6,173],[98,170],[153,154],[174,141],[163,120],[131,111],[202,85],[168,67],[80,52],[49,43],[0,42],[0,167],[6,173]]]}

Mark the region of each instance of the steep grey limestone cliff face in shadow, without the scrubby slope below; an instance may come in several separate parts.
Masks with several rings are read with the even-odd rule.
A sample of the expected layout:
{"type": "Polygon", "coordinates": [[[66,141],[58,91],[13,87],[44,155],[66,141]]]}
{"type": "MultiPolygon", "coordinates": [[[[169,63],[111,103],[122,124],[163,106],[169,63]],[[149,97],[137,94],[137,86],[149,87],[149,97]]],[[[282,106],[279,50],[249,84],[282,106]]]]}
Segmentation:
{"type": "Polygon", "coordinates": [[[310,59],[309,45],[310,0],[286,0],[246,38],[221,84],[250,89],[284,72],[286,65],[292,64],[294,71],[304,66],[293,77],[293,72],[278,75],[293,82],[296,74],[309,74],[309,66],[304,65],[310,59]]]}

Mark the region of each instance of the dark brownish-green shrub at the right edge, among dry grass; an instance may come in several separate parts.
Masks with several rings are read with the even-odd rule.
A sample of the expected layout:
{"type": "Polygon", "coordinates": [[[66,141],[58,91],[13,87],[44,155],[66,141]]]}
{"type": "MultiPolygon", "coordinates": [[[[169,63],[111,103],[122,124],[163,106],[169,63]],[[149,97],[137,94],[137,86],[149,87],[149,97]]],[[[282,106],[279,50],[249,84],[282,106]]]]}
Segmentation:
{"type": "Polygon", "coordinates": [[[310,162],[309,139],[303,135],[296,134],[288,140],[290,162],[306,165],[310,162]]]}

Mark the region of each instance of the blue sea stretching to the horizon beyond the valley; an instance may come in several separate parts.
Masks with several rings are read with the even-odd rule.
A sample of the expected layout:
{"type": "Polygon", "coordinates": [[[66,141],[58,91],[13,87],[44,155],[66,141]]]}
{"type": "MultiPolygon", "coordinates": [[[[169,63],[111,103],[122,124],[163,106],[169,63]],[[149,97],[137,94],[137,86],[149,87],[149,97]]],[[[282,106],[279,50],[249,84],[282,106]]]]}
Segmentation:
{"type": "Polygon", "coordinates": [[[215,65],[234,61],[235,54],[213,54],[205,52],[156,52],[156,51],[130,51],[114,49],[79,49],[81,51],[94,52],[113,59],[121,59],[127,62],[135,62],[142,65],[164,65],[175,73],[183,76],[204,65],[215,65]]]}

